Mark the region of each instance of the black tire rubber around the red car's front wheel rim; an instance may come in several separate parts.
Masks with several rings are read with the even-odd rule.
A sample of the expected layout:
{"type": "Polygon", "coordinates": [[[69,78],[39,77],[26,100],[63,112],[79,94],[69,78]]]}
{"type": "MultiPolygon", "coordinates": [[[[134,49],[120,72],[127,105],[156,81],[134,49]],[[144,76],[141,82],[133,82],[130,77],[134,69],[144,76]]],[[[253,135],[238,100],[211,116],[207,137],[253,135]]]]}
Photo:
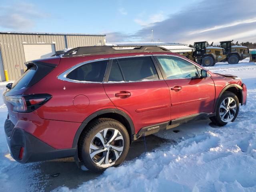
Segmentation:
{"type": "Polygon", "coordinates": [[[234,118],[232,119],[231,122],[233,122],[236,119],[238,112],[239,112],[239,100],[238,100],[237,96],[232,92],[224,92],[224,94],[222,94],[222,96],[220,97],[220,100],[218,102],[218,105],[216,108],[216,116],[214,117],[214,121],[213,121],[214,123],[216,123],[220,126],[224,126],[227,124],[227,122],[222,121],[220,118],[220,105],[221,105],[222,101],[228,97],[232,97],[236,101],[236,114],[234,115],[234,118]]]}

